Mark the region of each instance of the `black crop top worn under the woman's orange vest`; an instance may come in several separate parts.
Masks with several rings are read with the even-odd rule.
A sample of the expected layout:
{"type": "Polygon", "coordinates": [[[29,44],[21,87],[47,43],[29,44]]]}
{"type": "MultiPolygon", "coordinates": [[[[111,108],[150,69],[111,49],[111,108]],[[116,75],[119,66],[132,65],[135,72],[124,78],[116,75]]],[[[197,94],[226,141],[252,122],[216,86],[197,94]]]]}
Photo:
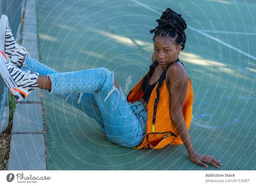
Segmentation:
{"type": "MultiPolygon", "coordinates": [[[[176,63],[177,61],[180,62],[179,58],[178,58],[174,63],[176,63]]],[[[157,61],[155,61],[153,64],[154,64],[154,66],[155,66],[155,68],[156,68],[156,65],[157,65],[158,63],[157,63],[157,61]]],[[[152,64],[152,65],[153,65],[153,64],[152,64]]],[[[184,66],[183,63],[181,63],[181,64],[184,66]]],[[[170,66],[170,65],[169,65],[169,66],[170,66]]],[[[168,67],[169,67],[169,66],[168,66],[168,67]]],[[[168,67],[167,67],[164,71],[167,71],[168,67]]],[[[185,67],[185,66],[184,66],[184,67],[185,67]]],[[[151,75],[152,75],[152,73],[153,73],[153,71],[154,71],[155,68],[153,68],[151,71],[148,72],[148,75],[144,78],[144,80],[143,80],[143,82],[142,82],[142,90],[144,91],[144,94],[143,94],[142,98],[143,98],[143,100],[146,101],[147,104],[148,104],[148,101],[149,101],[150,94],[151,94],[152,90],[154,89],[154,87],[156,86],[156,83],[157,83],[158,80],[159,80],[159,79],[158,79],[153,85],[148,85],[149,78],[151,77],[151,75]]],[[[170,93],[169,93],[169,94],[170,94],[170,93]]]]}

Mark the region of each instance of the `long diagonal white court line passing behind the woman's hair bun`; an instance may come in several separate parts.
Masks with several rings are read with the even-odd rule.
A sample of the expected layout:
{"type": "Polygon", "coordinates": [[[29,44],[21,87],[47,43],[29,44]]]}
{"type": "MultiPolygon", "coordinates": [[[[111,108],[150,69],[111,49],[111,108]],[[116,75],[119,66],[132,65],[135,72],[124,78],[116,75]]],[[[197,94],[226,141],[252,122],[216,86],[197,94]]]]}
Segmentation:
{"type": "MultiPolygon", "coordinates": [[[[137,0],[130,0],[130,1],[132,1],[133,3],[140,4],[142,7],[146,8],[146,9],[148,9],[148,10],[150,10],[150,11],[153,11],[153,12],[157,13],[158,15],[162,15],[162,12],[156,11],[156,10],[153,9],[153,8],[150,8],[150,7],[148,7],[148,6],[145,6],[145,4],[143,4],[143,3],[141,3],[141,2],[139,2],[139,1],[137,1],[137,0]]],[[[187,26],[188,26],[188,24],[187,24],[187,26]]],[[[250,55],[250,54],[248,54],[248,53],[246,53],[246,52],[244,52],[244,51],[242,51],[242,50],[238,50],[238,48],[236,48],[236,47],[234,47],[234,46],[232,46],[232,45],[229,45],[228,43],[226,43],[226,42],[224,42],[224,41],[221,41],[221,40],[219,40],[219,39],[217,39],[217,38],[215,38],[215,37],[213,37],[213,36],[211,36],[211,35],[209,35],[209,34],[207,34],[207,33],[204,33],[204,32],[202,32],[202,31],[200,31],[199,29],[196,29],[196,28],[194,28],[194,27],[192,27],[192,26],[188,26],[188,27],[189,27],[191,30],[193,30],[193,31],[195,31],[195,32],[197,32],[197,33],[200,33],[200,34],[202,34],[202,35],[205,35],[206,37],[208,37],[208,38],[210,38],[210,39],[212,39],[212,40],[214,40],[214,41],[220,42],[221,44],[223,44],[223,45],[225,45],[225,46],[227,46],[227,47],[229,47],[229,48],[231,48],[231,49],[233,49],[233,50],[236,50],[237,52],[240,52],[241,54],[244,54],[245,56],[248,56],[248,57],[250,57],[251,59],[254,59],[254,60],[256,61],[256,57],[254,57],[254,56],[252,56],[252,55],[250,55]]]]}

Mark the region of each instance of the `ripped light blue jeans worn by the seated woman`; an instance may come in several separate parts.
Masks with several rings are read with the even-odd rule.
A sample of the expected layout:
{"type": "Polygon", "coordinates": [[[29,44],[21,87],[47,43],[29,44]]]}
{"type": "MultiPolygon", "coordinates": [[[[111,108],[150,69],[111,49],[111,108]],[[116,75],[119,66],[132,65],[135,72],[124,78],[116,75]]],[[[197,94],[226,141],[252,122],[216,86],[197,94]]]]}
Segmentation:
{"type": "Polygon", "coordinates": [[[125,147],[140,145],[146,135],[147,112],[141,102],[127,102],[114,86],[114,73],[106,68],[58,73],[27,55],[21,70],[37,72],[52,81],[49,94],[57,94],[96,120],[108,139],[125,147]]]}

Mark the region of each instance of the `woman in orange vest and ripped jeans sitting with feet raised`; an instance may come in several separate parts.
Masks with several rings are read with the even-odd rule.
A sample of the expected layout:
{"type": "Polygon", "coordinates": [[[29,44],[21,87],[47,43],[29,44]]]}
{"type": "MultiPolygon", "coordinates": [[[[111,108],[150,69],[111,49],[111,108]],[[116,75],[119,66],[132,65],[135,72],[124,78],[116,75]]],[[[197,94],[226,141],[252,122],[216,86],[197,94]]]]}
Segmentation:
{"type": "MultiPolygon", "coordinates": [[[[154,123],[161,123],[159,119],[158,121],[156,119],[161,114],[159,108],[157,110],[159,100],[163,100],[163,95],[159,94],[159,90],[163,93],[163,88],[166,90],[167,87],[169,95],[172,95],[172,99],[169,99],[170,96],[167,94],[168,122],[174,123],[176,134],[173,130],[173,133],[165,135],[164,138],[182,139],[191,161],[206,168],[208,167],[206,163],[219,168],[219,165],[222,165],[220,160],[194,151],[188,133],[191,116],[189,116],[190,121],[185,121],[183,112],[181,112],[184,104],[191,102],[186,94],[192,94],[191,112],[193,103],[191,81],[183,64],[179,62],[179,53],[184,49],[186,42],[184,33],[187,27],[186,22],[181,14],[171,9],[166,9],[161,18],[156,21],[158,26],[150,31],[155,33],[152,68],[132,89],[127,100],[121,87],[114,80],[114,73],[106,68],[58,73],[32,59],[26,49],[15,42],[5,15],[2,15],[0,20],[1,48],[4,48],[0,57],[1,76],[18,101],[23,100],[32,90],[41,88],[47,89],[49,94],[57,94],[65,98],[89,116],[93,115],[90,109],[93,108],[94,116],[92,117],[95,118],[96,115],[99,118],[97,122],[108,139],[126,147],[141,146],[146,140],[146,134],[148,139],[148,130],[154,132],[154,123]],[[188,90],[189,85],[191,90],[188,90]],[[153,94],[157,95],[156,99],[153,99],[153,94]],[[80,102],[82,104],[79,104],[80,102]],[[151,108],[154,111],[151,112],[151,108]],[[153,112],[153,129],[151,130],[147,126],[149,124],[147,116],[153,112]]],[[[166,102],[164,104],[166,105],[166,102]]],[[[162,103],[161,107],[165,105],[162,103]]],[[[159,146],[159,140],[155,145],[153,142],[152,140],[150,143],[146,141],[148,147],[146,145],[143,147],[159,146]]],[[[168,141],[167,144],[171,143],[168,141]]]]}

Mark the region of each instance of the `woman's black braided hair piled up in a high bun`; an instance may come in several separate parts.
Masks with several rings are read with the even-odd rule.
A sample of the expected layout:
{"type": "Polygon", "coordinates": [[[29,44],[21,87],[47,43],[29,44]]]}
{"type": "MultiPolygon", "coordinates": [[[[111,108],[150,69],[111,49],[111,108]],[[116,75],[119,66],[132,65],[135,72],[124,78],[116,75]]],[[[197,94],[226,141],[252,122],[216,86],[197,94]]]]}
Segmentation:
{"type": "Polygon", "coordinates": [[[186,34],[184,30],[187,28],[186,21],[181,17],[181,14],[177,14],[175,11],[167,8],[160,19],[157,19],[158,26],[150,30],[150,33],[154,33],[153,41],[157,36],[170,37],[173,42],[178,46],[181,44],[181,50],[185,47],[186,34]]]}

